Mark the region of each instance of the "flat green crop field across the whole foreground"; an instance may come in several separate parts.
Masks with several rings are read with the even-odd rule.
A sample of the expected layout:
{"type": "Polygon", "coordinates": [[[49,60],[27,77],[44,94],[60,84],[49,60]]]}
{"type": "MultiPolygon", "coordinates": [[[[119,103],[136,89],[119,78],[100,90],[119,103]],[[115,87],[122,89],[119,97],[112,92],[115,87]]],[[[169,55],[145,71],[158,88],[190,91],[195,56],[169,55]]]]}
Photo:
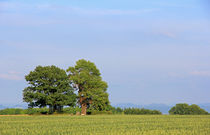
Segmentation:
{"type": "Polygon", "coordinates": [[[210,115],[0,116],[0,135],[210,135],[210,115]]]}

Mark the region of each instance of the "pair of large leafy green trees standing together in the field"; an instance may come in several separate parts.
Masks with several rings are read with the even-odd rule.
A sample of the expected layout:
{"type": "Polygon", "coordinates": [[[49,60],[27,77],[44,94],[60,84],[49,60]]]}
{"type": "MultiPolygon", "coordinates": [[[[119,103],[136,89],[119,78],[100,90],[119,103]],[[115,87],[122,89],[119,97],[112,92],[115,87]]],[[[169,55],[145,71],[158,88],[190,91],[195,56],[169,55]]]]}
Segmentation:
{"type": "Polygon", "coordinates": [[[110,107],[107,83],[95,64],[84,59],[67,72],[56,66],[37,66],[25,79],[29,86],[23,90],[23,100],[29,108],[49,106],[53,113],[78,104],[85,115],[87,109],[103,111],[110,107]]]}

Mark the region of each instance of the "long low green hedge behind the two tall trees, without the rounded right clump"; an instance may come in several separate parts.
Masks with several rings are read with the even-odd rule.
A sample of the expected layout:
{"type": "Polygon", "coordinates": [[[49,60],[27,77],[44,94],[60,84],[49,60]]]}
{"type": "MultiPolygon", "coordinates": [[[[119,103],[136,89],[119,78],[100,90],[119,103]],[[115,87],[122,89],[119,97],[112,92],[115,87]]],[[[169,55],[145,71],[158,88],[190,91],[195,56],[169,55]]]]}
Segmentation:
{"type": "MultiPolygon", "coordinates": [[[[71,115],[80,115],[80,107],[66,107],[63,108],[62,112],[57,112],[57,114],[71,114],[71,115]]],[[[49,108],[29,108],[29,109],[19,109],[19,108],[7,108],[0,110],[0,115],[19,115],[19,114],[28,114],[28,115],[46,115],[51,114],[49,108]]],[[[97,111],[97,110],[87,110],[88,115],[100,115],[100,114],[128,114],[128,115],[144,115],[144,114],[162,114],[158,110],[149,110],[149,109],[140,109],[140,108],[115,108],[111,107],[108,111],[97,111]]]]}

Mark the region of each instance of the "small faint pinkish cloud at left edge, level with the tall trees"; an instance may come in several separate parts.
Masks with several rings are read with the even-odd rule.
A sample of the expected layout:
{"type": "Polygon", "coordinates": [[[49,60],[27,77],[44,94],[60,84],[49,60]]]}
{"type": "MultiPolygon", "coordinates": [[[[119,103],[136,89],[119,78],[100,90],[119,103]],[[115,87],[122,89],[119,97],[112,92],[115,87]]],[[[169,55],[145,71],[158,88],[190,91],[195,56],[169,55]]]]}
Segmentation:
{"type": "Polygon", "coordinates": [[[19,81],[23,80],[23,77],[20,75],[19,72],[9,71],[8,73],[0,73],[0,79],[19,81]]]}

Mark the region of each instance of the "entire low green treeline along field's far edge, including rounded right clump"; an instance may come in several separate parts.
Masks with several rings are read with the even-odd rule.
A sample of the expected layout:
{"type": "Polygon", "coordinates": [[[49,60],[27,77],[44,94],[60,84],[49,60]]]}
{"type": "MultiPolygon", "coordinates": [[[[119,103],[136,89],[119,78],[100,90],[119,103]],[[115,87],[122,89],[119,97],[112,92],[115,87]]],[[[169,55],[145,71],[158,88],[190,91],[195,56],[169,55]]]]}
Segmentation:
{"type": "MultiPolygon", "coordinates": [[[[81,108],[76,107],[65,107],[61,112],[56,112],[57,114],[71,114],[71,115],[80,115],[81,108]]],[[[18,114],[28,114],[28,115],[40,115],[40,114],[52,114],[49,111],[49,108],[28,108],[28,109],[19,109],[19,108],[7,108],[0,110],[0,115],[18,115],[18,114]]],[[[159,110],[150,110],[145,108],[120,108],[112,107],[108,110],[99,111],[94,109],[87,109],[88,115],[98,115],[98,114],[125,114],[125,115],[161,115],[162,113],[159,110]]],[[[198,105],[192,104],[188,105],[186,103],[176,104],[169,110],[170,115],[208,115],[209,113],[204,109],[200,108],[198,105]]]]}

